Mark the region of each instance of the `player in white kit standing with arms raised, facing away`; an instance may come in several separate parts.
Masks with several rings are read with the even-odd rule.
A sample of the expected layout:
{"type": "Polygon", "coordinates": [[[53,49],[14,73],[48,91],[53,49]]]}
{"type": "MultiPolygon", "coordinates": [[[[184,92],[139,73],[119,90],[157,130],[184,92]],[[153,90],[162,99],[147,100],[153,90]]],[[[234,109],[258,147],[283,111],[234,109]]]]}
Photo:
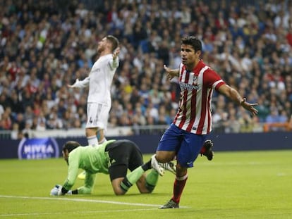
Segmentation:
{"type": "Polygon", "coordinates": [[[99,58],[92,66],[90,74],[84,80],[76,79],[68,87],[87,87],[87,124],[86,137],[88,145],[97,145],[104,141],[107,130],[107,120],[111,108],[111,82],[118,68],[118,39],[108,35],[99,42],[97,52],[99,58]]]}

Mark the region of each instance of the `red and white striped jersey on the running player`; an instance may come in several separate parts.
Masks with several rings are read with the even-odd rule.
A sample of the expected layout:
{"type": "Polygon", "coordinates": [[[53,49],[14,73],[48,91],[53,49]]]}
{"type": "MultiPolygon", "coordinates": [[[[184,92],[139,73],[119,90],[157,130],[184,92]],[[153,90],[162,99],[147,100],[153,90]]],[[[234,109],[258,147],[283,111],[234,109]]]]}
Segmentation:
{"type": "Polygon", "coordinates": [[[199,61],[193,71],[179,67],[179,85],[181,99],[174,124],[187,132],[208,134],[212,131],[211,101],[213,89],[218,89],[225,82],[221,77],[199,61]]]}

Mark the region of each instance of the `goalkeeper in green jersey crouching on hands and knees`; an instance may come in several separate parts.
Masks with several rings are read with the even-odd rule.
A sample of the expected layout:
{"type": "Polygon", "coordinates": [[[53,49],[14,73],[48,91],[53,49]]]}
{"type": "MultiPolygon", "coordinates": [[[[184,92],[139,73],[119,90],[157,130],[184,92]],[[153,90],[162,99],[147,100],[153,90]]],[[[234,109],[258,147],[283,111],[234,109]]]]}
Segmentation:
{"type": "Polygon", "coordinates": [[[51,195],[91,194],[97,173],[109,174],[114,194],[126,194],[136,184],[140,193],[151,193],[164,170],[176,173],[174,163],[160,164],[152,156],[143,163],[138,146],[127,139],[110,140],[97,146],[80,146],[69,141],[63,145],[63,158],[68,163],[68,177],[63,185],[51,189],[51,195]],[[86,172],[83,187],[72,190],[79,169],[86,172]],[[128,169],[130,173],[127,174],[128,169]],[[150,173],[145,172],[150,170],[150,173]]]}

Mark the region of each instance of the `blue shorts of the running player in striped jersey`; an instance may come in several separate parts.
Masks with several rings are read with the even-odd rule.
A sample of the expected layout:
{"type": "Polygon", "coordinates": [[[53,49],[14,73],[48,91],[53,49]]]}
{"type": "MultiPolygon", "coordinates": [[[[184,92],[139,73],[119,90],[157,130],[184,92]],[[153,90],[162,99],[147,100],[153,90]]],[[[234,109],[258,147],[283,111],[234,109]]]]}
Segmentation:
{"type": "Polygon", "coordinates": [[[171,124],[162,135],[157,151],[176,151],[178,163],[191,168],[206,139],[207,134],[193,134],[171,124]]]}

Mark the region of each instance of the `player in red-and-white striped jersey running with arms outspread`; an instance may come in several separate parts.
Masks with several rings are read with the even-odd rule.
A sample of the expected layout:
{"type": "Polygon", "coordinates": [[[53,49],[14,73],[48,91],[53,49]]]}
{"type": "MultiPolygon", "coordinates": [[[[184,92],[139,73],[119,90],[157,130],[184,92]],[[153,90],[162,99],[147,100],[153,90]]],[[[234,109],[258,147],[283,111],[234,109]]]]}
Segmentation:
{"type": "Polygon", "coordinates": [[[178,77],[181,87],[181,98],[178,112],[173,123],[164,132],[160,140],[156,158],[160,163],[167,163],[176,158],[176,179],[173,196],[161,208],[178,208],[188,179],[188,168],[200,153],[202,146],[212,131],[211,101],[212,92],[217,92],[250,111],[257,110],[245,98],[233,89],[212,68],[201,59],[202,43],[194,36],[184,37],[181,41],[181,65],[171,70],[164,65],[169,79],[178,77]]]}

